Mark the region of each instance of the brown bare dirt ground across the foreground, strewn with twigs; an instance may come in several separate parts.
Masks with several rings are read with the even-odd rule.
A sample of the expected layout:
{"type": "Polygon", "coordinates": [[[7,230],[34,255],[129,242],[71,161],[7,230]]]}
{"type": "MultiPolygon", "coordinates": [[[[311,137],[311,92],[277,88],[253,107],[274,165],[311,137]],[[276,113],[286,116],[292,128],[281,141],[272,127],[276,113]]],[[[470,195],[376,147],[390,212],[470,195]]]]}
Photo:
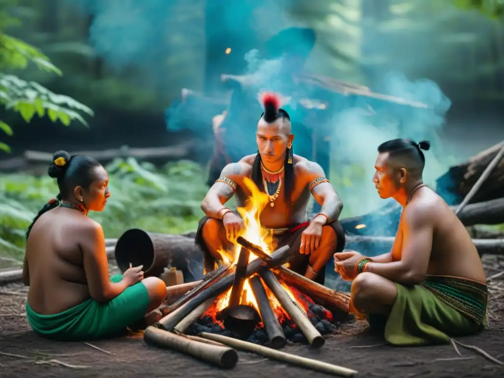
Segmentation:
{"type": "MultiPolygon", "coordinates": [[[[487,276],[504,271],[504,257],[483,258],[487,276]]],[[[504,276],[490,280],[488,328],[478,336],[458,339],[483,349],[504,361],[504,276]]],[[[222,376],[261,378],[283,374],[289,378],[327,374],[298,368],[261,356],[239,352],[232,370],[222,370],[181,353],[147,345],[141,335],[92,344],[63,343],[42,339],[30,329],[24,303],[26,288],[19,284],[0,287],[0,377],[170,377],[222,376]],[[100,348],[96,349],[96,348],[100,348]]],[[[451,345],[393,347],[371,335],[365,322],[341,327],[327,337],[320,350],[304,345],[288,345],[286,352],[353,368],[362,377],[498,377],[504,366],[474,350],[451,345]]]]}

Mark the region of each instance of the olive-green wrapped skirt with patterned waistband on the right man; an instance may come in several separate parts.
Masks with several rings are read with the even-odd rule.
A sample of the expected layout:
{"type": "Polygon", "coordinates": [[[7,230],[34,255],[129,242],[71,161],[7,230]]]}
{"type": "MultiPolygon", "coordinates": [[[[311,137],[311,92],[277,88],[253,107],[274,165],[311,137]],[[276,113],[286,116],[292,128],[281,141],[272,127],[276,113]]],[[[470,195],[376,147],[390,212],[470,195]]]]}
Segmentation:
{"type": "Polygon", "coordinates": [[[369,314],[368,322],[394,345],[447,344],[486,326],[487,287],[457,277],[427,276],[412,287],[396,283],[389,316],[369,314]]]}

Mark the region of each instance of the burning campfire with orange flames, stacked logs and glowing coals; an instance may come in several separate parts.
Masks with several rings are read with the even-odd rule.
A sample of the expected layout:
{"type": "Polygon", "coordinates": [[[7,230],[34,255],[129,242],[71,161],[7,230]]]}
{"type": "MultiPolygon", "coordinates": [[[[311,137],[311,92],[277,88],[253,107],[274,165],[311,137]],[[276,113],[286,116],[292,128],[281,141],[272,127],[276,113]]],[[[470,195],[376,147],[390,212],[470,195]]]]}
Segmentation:
{"type": "MultiPolygon", "coordinates": [[[[261,227],[268,196],[251,180],[251,196],[238,208],[244,231],[223,261],[192,290],[167,304],[158,328],[185,335],[219,334],[283,347],[287,340],[324,345],[322,335],[335,330],[335,317],[348,313],[348,296],[290,271],[298,251],[276,249],[273,234],[261,227]],[[327,308],[326,308],[327,307],[327,308]]],[[[337,320],[337,319],[336,319],[337,320]]]]}

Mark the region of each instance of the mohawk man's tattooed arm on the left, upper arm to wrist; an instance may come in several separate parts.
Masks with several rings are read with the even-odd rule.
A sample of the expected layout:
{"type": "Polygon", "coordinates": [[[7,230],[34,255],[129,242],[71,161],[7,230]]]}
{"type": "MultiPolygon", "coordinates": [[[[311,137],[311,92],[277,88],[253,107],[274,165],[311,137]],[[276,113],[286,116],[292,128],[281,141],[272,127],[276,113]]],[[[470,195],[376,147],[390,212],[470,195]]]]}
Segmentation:
{"type": "Polygon", "coordinates": [[[219,179],[212,185],[201,204],[201,209],[207,216],[221,219],[223,205],[236,192],[237,181],[241,179],[242,172],[240,163],[231,163],[224,167],[219,179]]]}

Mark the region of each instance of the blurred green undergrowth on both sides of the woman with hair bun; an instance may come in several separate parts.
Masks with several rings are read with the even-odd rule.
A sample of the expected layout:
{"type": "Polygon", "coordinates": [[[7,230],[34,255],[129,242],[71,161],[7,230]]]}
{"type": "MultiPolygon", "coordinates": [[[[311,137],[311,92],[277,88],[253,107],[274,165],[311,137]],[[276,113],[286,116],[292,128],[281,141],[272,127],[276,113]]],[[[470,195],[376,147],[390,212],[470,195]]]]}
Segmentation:
{"type": "MultiPolygon", "coordinates": [[[[129,158],[117,159],[106,169],[110,200],[103,212],[89,214],[106,237],[119,237],[133,227],[161,233],[197,228],[207,191],[199,165],[179,161],[156,171],[150,163],[129,158]]],[[[0,175],[0,268],[21,261],[26,229],[57,193],[56,181],[48,176],[0,175]]]]}

